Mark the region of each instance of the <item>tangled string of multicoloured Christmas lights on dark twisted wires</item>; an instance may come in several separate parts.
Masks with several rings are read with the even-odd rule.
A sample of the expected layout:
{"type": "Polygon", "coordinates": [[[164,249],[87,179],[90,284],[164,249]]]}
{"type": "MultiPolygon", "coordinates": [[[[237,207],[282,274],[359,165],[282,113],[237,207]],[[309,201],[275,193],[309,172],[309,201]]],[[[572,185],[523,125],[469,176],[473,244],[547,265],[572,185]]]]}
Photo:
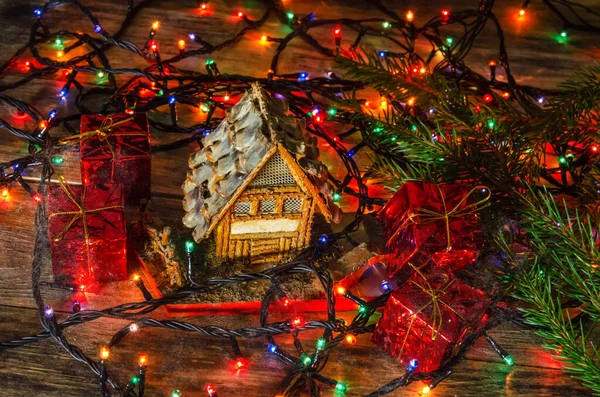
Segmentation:
{"type": "MultiPolygon", "coordinates": [[[[286,366],[293,369],[282,382],[281,396],[294,395],[305,388],[311,395],[318,395],[320,387],[330,387],[337,392],[345,392],[347,390],[345,383],[329,379],[320,372],[327,363],[329,352],[337,345],[344,341],[354,344],[356,342],[356,335],[373,331],[373,327],[368,325],[368,320],[378,307],[385,304],[389,293],[385,293],[380,298],[371,302],[362,301],[353,297],[349,291],[339,290],[334,287],[329,273],[325,270],[317,269],[314,266],[314,261],[317,256],[328,250],[336,240],[347,238],[349,241],[352,241],[350,234],[358,228],[360,223],[359,216],[368,207],[374,204],[382,204],[381,200],[368,196],[361,172],[353,160],[356,152],[367,145],[377,152],[378,142],[370,134],[372,128],[360,123],[339,136],[328,135],[320,126],[324,121],[352,124],[352,114],[339,111],[332,104],[336,103],[340,94],[342,96],[351,94],[355,90],[362,88],[361,84],[344,80],[336,76],[333,72],[329,72],[326,76],[321,77],[309,76],[306,72],[302,71],[287,74],[278,73],[279,60],[283,51],[292,40],[300,39],[327,57],[335,57],[339,54],[353,56],[352,51],[358,51],[365,38],[370,36],[382,37],[390,43],[390,46],[398,47],[400,50],[396,52],[389,51],[388,49],[380,49],[378,51],[380,57],[408,59],[412,64],[411,70],[416,75],[437,71],[450,78],[460,80],[461,85],[475,88],[484,102],[494,101],[494,96],[491,94],[492,89],[504,92],[508,98],[511,95],[529,95],[536,98],[540,103],[552,97],[553,92],[535,87],[522,86],[516,83],[510,70],[500,23],[492,12],[494,1],[491,0],[480,1],[478,7],[473,10],[453,12],[449,9],[443,9],[438,17],[431,19],[423,26],[415,25],[415,14],[413,11],[407,10],[404,17],[401,17],[384,7],[379,1],[370,2],[370,4],[381,10],[385,18],[362,20],[346,18],[316,19],[313,14],[299,16],[286,10],[281,2],[263,1],[265,5],[264,12],[257,20],[251,19],[244,11],[236,13],[237,17],[245,23],[245,26],[233,37],[218,44],[211,44],[207,39],[201,38],[194,32],[190,32],[188,33],[189,41],[177,41],[178,54],[168,59],[163,59],[160,55],[161,44],[158,41],[159,21],[154,21],[151,24],[148,40],[141,48],[131,42],[120,39],[127,26],[133,23],[136,14],[148,3],[149,1],[142,1],[134,6],[133,1],[128,1],[125,20],[119,30],[112,35],[104,30],[100,21],[77,0],[50,1],[43,7],[34,10],[36,19],[31,29],[29,43],[20,48],[8,62],[0,66],[0,76],[4,76],[14,67],[24,70],[26,76],[17,82],[0,86],[0,92],[22,87],[43,76],[62,73],[66,78],[66,82],[57,93],[57,96],[61,101],[67,100],[69,97],[73,97],[72,91],[76,90],[77,94],[75,95],[74,103],[81,113],[90,113],[86,107],[86,101],[98,95],[109,97],[101,109],[102,113],[148,112],[166,105],[169,107],[171,123],[164,124],[151,120],[152,127],[159,131],[185,134],[186,137],[169,145],[153,147],[153,152],[157,152],[170,150],[194,141],[201,144],[200,138],[210,134],[211,130],[221,121],[218,117],[213,117],[215,111],[217,109],[228,109],[232,105],[233,98],[241,95],[250,83],[259,81],[268,91],[277,96],[285,97],[290,104],[290,111],[296,117],[306,119],[308,130],[315,136],[324,139],[338,153],[348,174],[343,181],[334,180],[334,183],[338,187],[338,192],[334,198],[339,200],[342,194],[350,194],[359,198],[356,220],[340,233],[322,236],[317,243],[305,249],[293,262],[276,266],[265,272],[237,275],[225,280],[209,280],[204,283],[194,282],[190,288],[161,299],[152,298],[143,283],[138,279],[135,282],[141,289],[146,299],[145,302],[128,303],[102,311],[82,310],[81,304],[74,302],[74,313],[63,322],[58,323],[52,308],[44,304],[40,290],[42,285],[40,281],[42,256],[40,247],[43,246],[43,240],[47,238],[47,217],[44,202],[45,186],[54,172],[54,167],[58,167],[64,162],[56,147],[57,138],[52,136],[50,132],[52,129],[63,127],[70,134],[77,134],[76,129],[69,123],[77,121],[80,118],[80,114],[65,116],[58,115],[56,111],[51,111],[47,116],[44,116],[32,105],[8,95],[0,94],[0,102],[6,106],[15,108],[17,114],[21,117],[30,117],[37,123],[37,128],[34,131],[23,131],[11,126],[5,120],[0,120],[0,128],[4,128],[15,136],[30,142],[29,156],[0,164],[0,187],[2,187],[1,194],[5,196],[8,195],[8,188],[11,184],[19,184],[40,204],[36,215],[37,237],[32,285],[36,304],[40,309],[41,324],[45,329],[44,332],[35,336],[1,343],[1,348],[16,348],[38,340],[53,338],[76,360],[86,364],[98,376],[101,383],[102,395],[111,395],[112,391],[110,389],[112,388],[114,392],[120,393],[122,396],[143,396],[146,382],[145,372],[149,363],[147,355],[143,353],[140,355],[138,373],[133,375],[125,385],[114,380],[109,374],[110,352],[116,349],[118,343],[130,333],[140,332],[144,328],[160,327],[181,332],[194,332],[211,338],[227,340],[232,344],[238,369],[245,368],[246,363],[237,345],[236,338],[265,338],[268,342],[268,351],[276,355],[286,366]],[[45,23],[44,17],[53,9],[60,6],[78,8],[89,20],[95,35],[91,36],[86,33],[68,31],[53,33],[45,23]],[[183,70],[175,66],[175,63],[185,58],[208,55],[235,45],[248,32],[259,30],[272,16],[275,16],[282,23],[288,25],[292,29],[292,32],[282,38],[266,35],[260,37],[260,40],[263,42],[277,43],[277,48],[273,55],[270,69],[266,72],[266,77],[256,79],[247,76],[222,74],[218,69],[216,61],[213,59],[206,61],[207,73],[183,70]],[[487,79],[470,70],[464,64],[463,60],[471,50],[481,30],[490,21],[497,28],[499,60],[498,64],[496,61],[490,61],[490,78],[487,79]],[[439,28],[452,24],[463,28],[464,34],[461,37],[441,37],[439,28]],[[322,44],[309,34],[311,29],[322,26],[332,28],[334,49],[328,47],[331,43],[322,44]],[[345,34],[354,34],[356,37],[353,45],[348,49],[344,49],[341,46],[341,38],[345,34]],[[431,44],[432,51],[428,58],[422,58],[415,53],[415,42],[418,39],[425,39],[431,44]],[[55,59],[43,57],[40,53],[40,47],[46,46],[48,43],[53,43],[56,47],[55,59]],[[188,49],[196,45],[200,47],[188,49]],[[79,47],[89,48],[90,50],[84,55],[69,58],[69,53],[79,47]],[[113,68],[106,55],[106,51],[114,47],[128,53],[133,53],[150,62],[151,65],[143,70],[113,68]],[[30,59],[21,59],[21,56],[27,50],[31,52],[35,62],[32,62],[30,59]],[[433,64],[434,56],[438,53],[443,55],[442,60],[437,64],[433,64]],[[506,83],[496,79],[496,68],[498,66],[505,72],[506,83]],[[78,76],[89,74],[94,74],[98,82],[106,83],[107,86],[86,88],[78,80],[78,76]],[[119,76],[129,76],[129,80],[119,85],[117,82],[117,77],[119,76]],[[297,92],[306,92],[308,95],[301,96],[297,92]],[[316,98],[320,99],[317,100],[316,98]],[[207,114],[206,121],[198,125],[181,126],[178,123],[178,106],[197,107],[201,112],[207,114]],[[346,150],[341,141],[356,131],[361,133],[363,142],[350,150],[346,150]],[[27,169],[32,167],[41,168],[41,178],[37,191],[23,178],[27,169]],[[357,190],[349,187],[353,180],[357,184],[357,190]],[[267,322],[271,303],[277,299],[286,298],[285,296],[281,296],[282,290],[280,284],[284,282],[284,279],[289,274],[297,272],[312,273],[321,282],[325,296],[327,297],[327,320],[305,322],[301,318],[293,318],[286,322],[267,322]],[[258,279],[269,280],[272,283],[271,289],[265,294],[262,301],[260,327],[229,330],[214,326],[199,327],[181,321],[158,321],[152,318],[140,317],[151,313],[163,305],[178,302],[190,295],[202,294],[226,288],[232,284],[258,279]],[[336,319],[334,290],[354,300],[359,306],[357,315],[350,324],[344,324],[336,319]],[[62,331],[68,327],[94,321],[102,317],[127,318],[132,319],[132,323],[115,334],[108,344],[100,349],[100,360],[96,361],[87,357],[77,346],[71,344],[62,331]],[[323,329],[324,331],[323,337],[317,341],[315,348],[310,349],[307,353],[302,346],[299,335],[302,331],[311,329],[323,329]],[[337,335],[334,336],[334,333],[337,335]],[[288,334],[293,337],[297,357],[295,354],[284,351],[275,343],[274,336],[280,334],[288,334]]],[[[543,0],[543,3],[552,12],[559,15],[564,23],[564,29],[558,34],[559,41],[566,41],[568,39],[568,30],[598,31],[597,28],[589,24],[571,22],[556,7],[556,4],[562,2],[543,0]]],[[[519,12],[520,17],[526,15],[528,5],[529,1],[523,4],[519,12]]],[[[209,7],[209,4],[202,2],[199,4],[199,7],[206,9],[209,7]]],[[[579,7],[583,11],[588,11],[583,6],[574,4],[572,7],[579,7]]],[[[505,95],[503,94],[503,96],[505,95]]],[[[382,99],[382,104],[384,101],[385,99],[382,99]]],[[[413,103],[408,103],[408,105],[413,106],[414,101],[413,103]]],[[[191,253],[192,251],[193,246],[189,247],[188,252],[191,253]]],[[[189,259],[188,261],[191,266],[192,260],[189,259]]],[[[77,289],[78,286],[74,286],[74,288],[77,289]]],[[[502,321],[519,321],[518,316],[512,312],[495,310],[492,313],[494,314],[494,318],[488,322],[486,330],[493,328],[502,321]]],[[[488,340],[494,350],[499,353],[508,365],[512,365],[510,356],[489,338],[487,334],[484,334],[485,330],[480,334],[472,335],[461,345],[459,352],[457,352],[452,360],[434,373],[415,372],[418,369],[418,363],[411,362],[405,374],[392,380],[368,396],[385,395],[396,390],[398,387],[406,386],[418,380],[429,380],[428,385],[422,391],[423,393],[427,393],[451,374],[451,368],[463,357],[464,353],[480,336],[486,336],[486,340],[488,340]]],[[[205,390],[208,396],[217,396],[217,390],[213,385],[207,385],[205,390]]],[[[172,393],[173,397],[181,395],[182,392],[178,390],[172,393]]]]}

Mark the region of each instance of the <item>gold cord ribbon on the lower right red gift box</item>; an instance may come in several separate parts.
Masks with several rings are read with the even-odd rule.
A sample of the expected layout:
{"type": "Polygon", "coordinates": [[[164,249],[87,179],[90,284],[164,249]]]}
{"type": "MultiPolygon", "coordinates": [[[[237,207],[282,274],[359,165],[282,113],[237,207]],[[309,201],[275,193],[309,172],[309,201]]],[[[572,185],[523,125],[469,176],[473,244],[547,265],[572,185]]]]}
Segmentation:
{"type": "MultiPolygon", "coordinates": [[[[408,324],[408,327],[406,328],[406,335],[404,336],[404,341],[402,342],[402,347],[400,348],[400,355],[402,355],[402,352],[404,351],[404,346],[406,345],[406,341],[408,340],[408,337],[410,336],[410,332],[412,330],[412,326],[415,322],[415,320],[418,318],[418,315],[425,310],[426,308],[428,308],[429,306],[432,306],[431,309],[431,322],[430,322],[430,326],[431,326],[431,340],[434,341],[437,339],[438,334],[442,331],[442,326],[444,324],[444,318],[442,316],[442,309],[441,306],[445,306],[447,307],[452,313],[454,313],[456,316],[458,316],[461,320],[464,320],[464,317],[461,316],[456,310],[454,310],[450,305],[448,305],[446,302],[444,302],[443,300],[441,300],[441,298],[444,296],[444,294],[446,293],[446,290],[452,285],[452,283],[454,283],[455,280],[451,280],[449,282],[445,282],[445,284],[438,289],[435,289],[431,286],[431,284],[429,284],[429,281],[427,281],[427,278],[425,277],[425,275],[416,267],[414,266],[412,263],[408,263],[408,265],[410,267],[413,268],[413,270],[415,272],[417,272],[417,274],[423,279],[423,282],[425,284],[425,286],[417,284],[416,282],[409,280],[408,282],[417,286],[418,288],[420,288],[423,292],[425,292],[427,295],[429,295],[431,297],[431,300],[426,303],[425,305],[423,305],[423,307],[421,307],[419,310],[417,310],[416,312],[414,312],[411,316],[410,319],[410,323],[408,324]]],[[[446,274],[446,280],[448,279],[448,275],[446,274]]]]}

